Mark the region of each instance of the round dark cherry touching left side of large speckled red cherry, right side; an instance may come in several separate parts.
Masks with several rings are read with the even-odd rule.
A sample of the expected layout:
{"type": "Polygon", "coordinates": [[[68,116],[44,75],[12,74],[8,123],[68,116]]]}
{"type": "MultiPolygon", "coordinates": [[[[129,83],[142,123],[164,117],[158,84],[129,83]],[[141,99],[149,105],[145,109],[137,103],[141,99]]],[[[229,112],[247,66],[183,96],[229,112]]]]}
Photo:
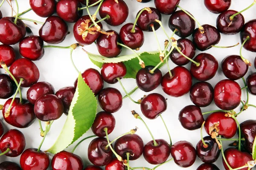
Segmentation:
{"type": "Polygon", "coordinates": [[[197,82],[189,92],[190,100],[199,107],[206,107],[212,103],[213,88],[208,82],[197,82]]]}

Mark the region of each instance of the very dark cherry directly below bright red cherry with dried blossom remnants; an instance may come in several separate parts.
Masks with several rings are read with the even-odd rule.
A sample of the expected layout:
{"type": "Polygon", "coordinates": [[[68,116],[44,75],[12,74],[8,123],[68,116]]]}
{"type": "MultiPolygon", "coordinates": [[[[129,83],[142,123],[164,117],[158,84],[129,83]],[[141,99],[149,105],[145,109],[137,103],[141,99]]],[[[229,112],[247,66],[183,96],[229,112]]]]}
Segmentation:
{"type": "Polygon", "coordinates": [[[204,146],[202,140],[200,140],[196,145],[196,153],[198,158],[204,163],[209,164],[217,161],[221,150],[219,149],[215,139],[212,139],[211,136],[205,136],[204,142],[207,144],[207,147],[204,146]]]}

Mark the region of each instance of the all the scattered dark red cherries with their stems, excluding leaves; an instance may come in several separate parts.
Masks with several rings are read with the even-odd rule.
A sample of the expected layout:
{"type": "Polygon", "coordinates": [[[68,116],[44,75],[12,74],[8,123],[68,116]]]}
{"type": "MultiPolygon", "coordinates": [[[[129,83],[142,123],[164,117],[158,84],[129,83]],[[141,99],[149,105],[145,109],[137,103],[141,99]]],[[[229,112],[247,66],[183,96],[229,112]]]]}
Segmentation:
{"type": "MultiPolygon", "coordinates": [[[[0,7],[5,0],[2,0],[0,7]]],[[[8,1],[8,0],[6,0],[8,1]]],[[[151,0],[137,0],[138,3],[147,3],[151,0]]],[[[182,1],[182,0],[181,0],[182,1]]],[[[138,59],[138,65],[142,68],[137,72],[137,87],[128,93],[122,85],[121,79],[127,73],[126,65],[119,63],[104,63],[101,72],[88,68],[81,75],[84,82],[97,96],[99,105],[103,111],[97,113],[91,130],[95,134],[85,139],[94,138],[88,146],[88,159],[93,164],[85,167],[84,170],[155,170],[163,164],[172,160],[180,167],[190,167],[198,156],[204,164],[197,170],[220,170],[214,163],[222,153],[222,160],[225,170],[250,170],[256,164],[253,160],[253,142],[256,137],[256,120],[247,120],[241,124],[237,116],[248,107],[255,107],[249,104],[249,93],[256,95],[256,73],[244,79],[250,61],[245,59],[242,48],[256,52],[256,20],[244,22],[241,12],[252,7],[256,0],[243,11],[228,10],[231,0],[204,0],[207,9],[219,14],[216,21],[216,28],[211,25],[200,25],[188,11],[179,6],[180,0],[154,0],[154,7],[145,7],[138,11],[135,22],[122,26],[120,32],[104,30],[102,21],[110,26],[120,26],[128,17],[129,9],[124,0],[29,0],[28,10],[19,13],[18,2],[15,0],[17,11],[14,17],[2,16],[0,11],[0,69],[7,74],[0,74],[0,99],[8,99],[4,105],[0,105],[3,112],[3,119],[9,125],[17,128],[26,128],[32,125],[36,119],[39,121],[42,142],[38,148],[25,149],[25,136],[17,129],[11,129],[4,133],[3,122],[0,122],[0,156],[20,156],[20,165],[4,161],[0,163],[0,170],[47,170],[50,158],[47,151],[41,151],[41,146],[54,120],[60,118],[63,113],[68,115],[70,104],[76,91],[77,80],[74,86],[68,86],[55,92],[49,82],[38,82],[40,72],[33,62],[44,56],[45,48],[67,48],[72,51],[78,46],[90,45],[95,42],[99,54],[103,57],[118,57],[122,48],[128,48],[134,52],[138,59]],[[83,4],[83,5],[82,5],[83,4]],[[96,11],[90,14],[88,8],[95,6],[96,11]],[[180,10],[177,10],[179,8],[180,10]],[[21,15],[34,11],[40,17],[45,17],[44,23],[23,18],[21,15]],[[86,15],[83,15],[84,11],[86,15]],[[53,15],[57,13],[57,15],[53,15]],[[98,14],[101,19],[96,18],[98,14]],[[166,34],[161,23],[162,14],[170,15],[169,28],[173,31],[172,36],[166,34]],[[23,21],[32,21],[41,24],[39,36],[30,35],[31,29],[23,21]],[[73,35],[77,41],[67,47],[44,45],[58,44],[64,41],[69,28],[67,23],[75,23],[73,35]],[[198,28],[196,28],[196,24],[198,28]],[[155,31],[163,29],[166,34],[164,42],[165,49],[157,40],[155,31]],[[151,31],[156,36],[159,50],[159,64],[145,65],[140,55],[134,50],[139,50],[144,42],[143,31],[151,31]],[[238,34],[241,38],[240,55],[230,55],[221,62],[221,71],[227,79],[219,81],[213,88],[206,82],[212,79],[218,70],[218,61],[211,54],[200,53],[195,57],[196,49],[206,51],[209,48],[230,48],[217,46],[222,34],[238,34]],[[175,40],[173,35],[180,37],[175,40]],[[192,35],[192,41],[187,37],[192,35]],[[14,48],[11,45],[19,43],[19,53],[23,58],[17,59],[14,48]],[[169,69],[168,59],[171,59],[177,66],[169,69]],[[161,63],[166,62],[168,71],[164,75],[158,68],[161,63]],[[190,70],[183,67],[190,63],[190,70]],[[198,80],[194,85],[192,78],[198,80]],[[244,87],[235,81],[242,79],[244,87]],[[109,84],[120,83],[126,96],[116,88],[104,88],[104,82],[109,84]],[[138,101],[131,98],[137,89],[144,92],[151,92],[161,85],[163,92],[172,97],[190,95],[194,105],[184,107],[178,119],[181,125],[187,130],[201,128],[201,140],[192,146],[190,142],[179,141],[172,144],[168,128],[162,118],[166,111],[167,100],[161,94],[151,93],[143,96],[138,101]],[[23,99],[20,88],[28,88],[26,99],[23,99]],[[242,90],[247,92],[247,100],[241,100],[242,90]],[[16,97],[19,93],[20,97],[16,97]],[[115,128],[116,120],[112,113],[119,111],[122,107],[122,100],[128,97],[135,104],[139,104],[141,113],[147,119],[160,117],[170,137],[170,142],[163,139],[154,139],[148,126],[138,113],[131,111],[135,119],[140,119],[147,127],[152,140],[144,145],[143,139],[136,133],[137,127],[109,141],[108,135],[115,128]],[[221,110],[202,113],[201,107],[207,107],[214,101],[221,110]],[[236,113],[234,109],[241,107],[236,113]],[[209,114],[204,119],[205,114],[209,114]],[[45,129],[41,125],[45,122],[45,129]],[[202,136],[203,128],[209,136],[202,136]],[[4,133],[4,134],[3,134],[4,133]],[[238,133],[239,138],[233,139],[238,133]],[[223,140],[230,140],[230,148],[222,147],[223,140]],[[114,146],[112,145],[114,143],[114,146]],[[153,168],[131,167],[129,161],[136,160],[140,156],[150,164],[156,165],[153,168]],[[168,159],[169,156],[171,159],[168,159]],[[21,168],[20,168],[21,167],[21,168]]],[[[189,2],[188,2],[189,3],[189,2]]],[[[12,10],[14,10],[12,8],[12,10]]],[[[152,34],[153,34],[152,33],[152,34]]],[[[254,61],[256,67],[256,60],[254,61]]],[[[76,66],[74,65],[76,68],[76,66]]],[[[76,68],[77,70],[77,68],[76,68]]],[[[78,70],[77,70],[78,71],[78,70]]],[[[65,150],[56,153],[51,160],[52,170],[83,170],[84,164],[80,156],[74,154],[76,147],[85,139],[82,139],[72,150],[65,150]]],[[[160,168],[159,168],[160,169],[160,168]]]]}

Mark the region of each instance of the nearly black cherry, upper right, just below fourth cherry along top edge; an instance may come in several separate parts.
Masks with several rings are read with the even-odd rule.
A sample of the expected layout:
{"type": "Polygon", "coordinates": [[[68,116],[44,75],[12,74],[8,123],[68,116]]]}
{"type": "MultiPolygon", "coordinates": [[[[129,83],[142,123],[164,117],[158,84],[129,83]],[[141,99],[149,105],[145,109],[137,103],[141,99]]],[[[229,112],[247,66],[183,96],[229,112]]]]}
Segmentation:
{"type": "Polygon", "coordinates": [[[175,29],[177,30],[175,32],[177,36],[181,38],[186,38],[193,33],[195,29],[195,20],[189,17],[189,15],[186,14],[184,11],[179,10],[175,11],[171,15],[168,25],[172,31],[174,31],[175,29]]]}

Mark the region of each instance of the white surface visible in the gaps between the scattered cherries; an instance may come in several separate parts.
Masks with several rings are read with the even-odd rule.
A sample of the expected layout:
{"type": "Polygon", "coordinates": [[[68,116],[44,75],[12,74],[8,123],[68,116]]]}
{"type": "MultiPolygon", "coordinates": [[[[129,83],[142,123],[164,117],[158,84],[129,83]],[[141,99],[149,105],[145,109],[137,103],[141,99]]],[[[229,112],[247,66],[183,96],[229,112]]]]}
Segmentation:
{"type": "MultiPolygon", "coordinates": [[[[128,4],[129,10],[130,10],[128,19],[125,23],[130,23],[130,22],[133,23],[137,12],[141,8],[154,7],[154,0],[152,0],[150,3],[138,3],[136,0],[125,0],[125,2],[128,4]]],[[[252,2],[253,2],[253,0],[244,0],[244,1],[233,0],[230,9],[240,11],[240,10],[246,8],[247,6],[249,6],[252,2]]],[[[29,8],[29,0],[18,0],[18,3],[19,3],[19,7],[20,7],[20,12],[25,11],[27,8],[29,8]]],[[[14,1],[13,1],[13,6],[15,8],[14,1]]],[[[194,17],[197,18],[197,20],[201,24],[210,24],[212,26],[215,26],[215,22],[216,22],[216,18],[218,17],[218,14],[212,14],[211,12],[209,12],[207,10],[207,8],[205,8],[203,0],[181,0],[180,6],[185,8],[186,10],[188,10],[191,14],[193,14],[194,17]]],[[[11,15],[11,8],[7,2],[4,3],[3,7],[0,10],[3,13],[3,16],[11,15]]],[[[93,13],[93,11],[95,11],[96,8],[90,8],[90,10],[92,11],[91,13],[93,13]]],[[[84,10],[84,15],[85,14],[87,14],[86,10],[84,10]]],[[[254,16],[256,16],[256,6],[253,6],[251,9],[245,11],[243,13],[243,15],[245,18],[245,22],[247,22],[251,19],[254,19],[254,16]]],[[[41,22],[44,22],[44,20],[45,20],[45,18],[38,17],[33,11],[30,11],[29,13],[24,14],[22,17],[30,18],[33,20],[38,20],[41,22]]],[[[98,16],[98,18],[99,18],[99,16],[98,16]]],[[[168,34],[171,35],[172,31],[168,27],[168,20],[169,20],[169,16],[162,15],[162,22],[164,24],[164,27],[166,28],[166,31],[168,32],[168,34]]],[[[24,23],[26,23],[32,29],[32,32],[35,35],[38,35],[38,30],[41,27],[40,24],[34,25],[33,23],[31,23],[29,21],[24,21],[24,23]]],[[[121,26],[117,26],[117,27],[108,26],[105,22],[102,22],[102,24],[103,24],[103,27],[105,30],[113,29],[113,30],[119,32],[119,29],[121,28],[121,26]]],[[[72,43],[76,42],[76,40],[73,37],[73,23],[69,23],[68,25],[69,25],[70,34],[67,35],[64,42],[58,44],[60,46],[68,46],[68,45],[71,45],[72,43]]],[[[145,42],[144,42],[144,45],[142,46],[142,48],[140,49],[140,51],[157,50],[157,44],[155,43],[156,41],[154,38],[154,34],[152,32],[144,32],[144,34],[145,34],[145,42]]],[[[29,34],[27,34],[26,36],[28,36],[28,35],[29,34]]],[[[163,34],[163,31],[161,30],[161,28],[157,30],[157,35],[158,35],[159,41],[161,42],[162,49],[163,49],[163,42],[166,39],[166,37],[163,34]]],[[[178,39],[179,37],[177,37],[175,35],[175,38],[178,39]]],[[[191,40],[191,37],[189,37],[189,39],[191,40]]],[[[239,34],[231,35],[231,36],[226,36],[226,35],[221,34],[221,41],[219,42],[218,45],[227,45],[228,46],[228,45],[236,44],[237,42],[240,42],[239,34]]],[[[47,45],[47,43],[45,43],[45,45],[47,45]]],[[[15,48],[17,55],[18,55],[18,45],[13,45],[13,47],[15,48]]],[[[239,55],[239,48],[240,48],[240,45],[235,48],[229,48],[229,49],[211,48],[205,52],[210,53],[214,57],[216,57],[216,59],[218,59],[219,65],[220,65],[221,60],[224,57],[226,57],[227,55],[232,55],[232,54],[239,55]]],[[[98,54],[95,44],[85,46],[84,49],[86,49],[87,51],[89,51],[91,53],[98,54]]],[[[196,52],[196,54],[199,54],[199,53],[201,53],[201,51],[196,52]]],[[[131,51],[123,49],[122,54],[131,54],[131,51]]],[[[18,55],[18,56],[20,57],[20,55],[18,55]]],[[[246,57],[247,59],[249,59],[250,62],[253,63],[255,53],[243,50],[243,56],[246,57]]],[[[74,59],[74,62],[76,64],[77,68],[80,71],[84,71],[87,68],[96,68],[99,70],[99,68],[97,68],[95,65],[93,65],[92,62],[90,62],[90,59],[88,59],[87,54],[85,54],[81,50],[80,47],[77,48],[75,51],[73,51],[73,59],[74,59]]],[[[169,63],[170,63],[170,68],[175,67],[175,64],[173,64],[172,62],[169,62],[169,63]]],[[[47,82],[51,83],[54,86],[55,91],[58,91],[58,89],[60,89],[62,87],[65,87],[68,85],[73,85],[73,82],[75,81],[75,79],[77,77],[76,71],[70,63],[69,49],[47,48],[47,49],[45,49],[44,57],[39,61],[35,61],[35,64],[38,66],[39,71],[40,71],[39,81],[47,81],[47,82]]],[[[185,67],[189,68],[190,63],[187,64],[185,67]]],[[[163,68],[161,68],[161,71],[163,74],[165,74],[167,72],[167,67],[164,66],[163,68]]],[[[251,66],[249,68],[249,71],[245,77],[247,77],[252,72],[255,72],[255,68],[253,66],[251,66]]],[[[5,71],[3,69],[0,69],[0,73],[5,73],[5,71]]],[[[208,82],[211,83],[212,86],[214,87],[215,84],[218,81],[220,81],[221,79],[225,79],[225,77],[221,72],[221,68],[219,67],[216,76],[213,79],[209,80],[208,82]]],[[[125,88],[127,91],[132,90],[136,86],[134,79],[122,79],[122,82],[125,85],[125,88]]],[[[193,80],[193,82],[196,82],[195,79],[193,80]]],[[[242,80],[238,80],[237,82],[241,85],[241,87],[244,87],[242,80]]],[[[110,86],[110,85],[105,83],[104,87],[106,88],[108,86],[110,86]]],[[[122,91],[122,89],[120,88],[120,85],[118,83],[115,85],[111,85],[111,87],[118,88],[122,94],[125,94],[122,91]]],[[[27,91],[27,88],[22,88],[22,93],[23,93],[24,97],[26,96],[26,91],[27,91]]],[[[154,91],[152,91],[151,93],[153,93],[153,92],[160,93],[168,99],[167,100],[168,108],[167,108],[167,111],[165,113],[163,113],[163,118],[165,119],[167,126],[170,130],[173,143],[180,141],[180,140],[186,140],[186,141],[191,142],[193,144],[193,146],[195,147],[197,142],[200,140],[200,130],[194,130],[194,131],[185,130],[180,125],[180,122],[178,121],[178,113],[180,112],[180,110],[183,107],[185,107],[186,105],[192,105],[192,102],[189,99],[189,94],[186,94],[185,96],[182,96],[179,98],[170,97],[162,91],[160,86],[157,89],[155,89],[154,91]]],[[[138,90],[132,95],[132,98],[137,100],[137,99],[140,99],[140,97],[142,97],[144,94],[148,94],[148,93],[138,90]]],[[[242,100],[246,100],[245,91],[243,91],[243,93],[242,93],[242,100]]],[[[4,104],[5,101],[6,100],[0,100],[0,104],[4,104]]],[[[256,97],[250,95],[249,103],[256,104],[256,97]]],[[[213,102],[209,107],[202,108],[202,111],[203,112],[204,111],[212,111],[215,109],[218,109],[218,108],[215,106],[215,104],[213,102]]],[[[122,108],[118,112],[113,114],[116,118],[116,128],[114,129],[113,133],[111,133],[110,139],[114,139],[116,136],[119,136],[120,134],[125,133],[128,130],[137,126],[137,127],[139,127],[137,134],[143,138],[144,144],[146,144],[148,141],[151,140],[151,137],[150,137],[148,131],[146,130],[146,128],[144,127],[144,125],[142,124],[142,122],[140,122],[140,120],[136,120],[133,118],[133,116],[131,115],[131,112],[130,112],[131,110],[135,110],[138,113],[141,113],[139,105],[134,104],[128,98],[124,99],[122,108]]],[[[99,107],[98,111],[102,111],[102,109],[99,107]]],[[[236,111],[239,111],[239,108],[237,108],[236,111]]],[[[143,115],[142,115],[142,117],[143,117],[143,115]]],[[[2,114],[0,115],[0,118],[3,120],[2,114]]],[[[55,139],[58,137],[58,134],[60,133],[61,128],[65,122],[65,119],[66,119],[66,116],[63,114],[63,116],[61,116],[60,119],[56,120],[52,124],[52,128],[51,128],[49,134],[47,135],[46,140],[41,148],[42,150],[48,149],[55,142],[55,139]]],[[[241,113],[241,115],[238,117],[238,120],[240,123],[247,119],[255,119],[255,108],[249,108],[247,111],[244,111],[244,113],[241,113]]],[[[160,118],[153,120],[153,121],[148,120],[148,119],[144,119],[144,120],[150,127],[150,129],[156,139],[165,139],[166,141],[169,141],[168,135],[166,133],[166,130],[165,130],[160,118]]],[[[7,123],[4,120],[3,120],[3,122],[6,127],[5,131],[7,129],[15,128],[15,127],[12,127],[11,125],[7,125],[7,123]]],[[[19,129],[19,130],[21,130],[24,133],[24,135],[26,136],[26,148],[29,148],[29,147],[37,148],[39,146],[42,138],[40,136],[38,121],[35,121],[33,125],[31,125],[30,127],[26,128],[26,129],[19,129]]],[[[89,130],[86,134],[84,134],[83,137],[90,136],[92,134],[93,133],[91,132],[91,130],[89,130]]],[[[204,136],[205,135],[206,135],[206,133],[204,132],[204,136]]],[[[89,162],[89,160],[87,159],[87,146],[88,146],[89,142],[90,142],[90,140],[83,142],[75,151],[75,153],[78,154],[79,156],[81,156],[81,158],[83,159],[84,165],[91,164],[89,162]]],[[[75,142],[75,143],[77,143],[77,142],[75,142]]],[[[230,143],[230,142],[224,142],[225,148],[227,147],[225,145],[228,143],[230,143]]],[[[75,146],[75,144],[72,144],[66,150],[71,151],[74,146],[75,146]]],[[[19,163],[19,158],[20,157],[8,158],[6,156],[1,156],[0,162],[9,160],[9,161],[15,161],[15,162],[19,163]]],[[[203,162],[197,158],[195,164],[193,164],[191,167],[188,167],[186,169],[196,170],[196,168],[202,163],[203,162]]],[[[143,158],[143,156],[141,156],[140,159],[138,159],[137,161],[131,161],[130,164],[131,164],[131,167],[138,167],[138,166],[140,166],[140,167],[145,166],[145,167],[150,167],[150,168],[154,167],[154,165],[148,164],[145,161],[145,159],[143,158]]],[[[215,162],[215,164],[221,170],[224,169],[224,167],[222,165],[222,161],[221,161],[221,156],[219,157],[218,161],[215,162]]],[[[174,163],[174,161],[172,161],[168,164],[165,164],[162,167],[159,167],[157,169],[169,170],[170,167],[175,170],[183,169],[181,167],[178,167],[174,163]]]]}

